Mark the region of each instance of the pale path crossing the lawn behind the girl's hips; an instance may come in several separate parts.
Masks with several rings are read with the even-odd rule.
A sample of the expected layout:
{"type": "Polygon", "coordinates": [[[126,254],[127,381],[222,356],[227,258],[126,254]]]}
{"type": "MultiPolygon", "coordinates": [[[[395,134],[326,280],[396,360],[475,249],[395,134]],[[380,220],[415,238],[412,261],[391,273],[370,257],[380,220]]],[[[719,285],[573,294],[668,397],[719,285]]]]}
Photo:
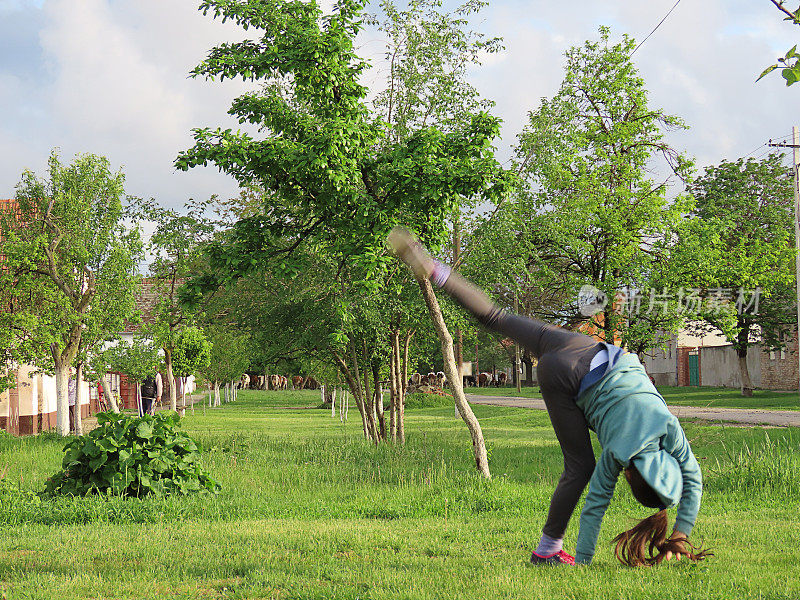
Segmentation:
{"type": "MultiPolygon", "coordinates": [[[[508,396],[478,396],[467,394],[472,404],[515,406],[545,410],[544,401],[538,398],[513,398],[508,396]]],[[[670,406],[670,412],[681,419],[723,421],[745,425],[772,427],[800,427],[800,412],[791,410],[756,410],[750,408],[698,408],[695,406],[670,406]]]]}

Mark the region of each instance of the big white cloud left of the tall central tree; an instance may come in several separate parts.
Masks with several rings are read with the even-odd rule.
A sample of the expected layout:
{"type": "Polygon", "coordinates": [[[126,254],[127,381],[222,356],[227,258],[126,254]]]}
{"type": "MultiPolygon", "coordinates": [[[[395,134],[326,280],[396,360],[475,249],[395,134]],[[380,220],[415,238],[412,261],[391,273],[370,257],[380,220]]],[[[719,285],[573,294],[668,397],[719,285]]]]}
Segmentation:
{"type": "Polygon", "coordinates": [[[49,0],[43,11],[39,38],[50,76],[44,88],[18,90],[16,104],[24,112],[32,103],[21,99],[44,98],[52,126],[25,142],[43,154],[39,164],[21,164],[12,154],[6,179],[11,169],[14,178],[24,167],[42,169],[49,148],[59,147],[66,157],[108,156],[125,171],[130,193],[172,206],[236,194],[230,177],[212,168],[176,173],[172,162],[191,146],[192,127],[238,126],[225,113],[248,86],[188,73],[214,44],[244,37],[241,29],[204,17],[191,3],[49,0]]]}

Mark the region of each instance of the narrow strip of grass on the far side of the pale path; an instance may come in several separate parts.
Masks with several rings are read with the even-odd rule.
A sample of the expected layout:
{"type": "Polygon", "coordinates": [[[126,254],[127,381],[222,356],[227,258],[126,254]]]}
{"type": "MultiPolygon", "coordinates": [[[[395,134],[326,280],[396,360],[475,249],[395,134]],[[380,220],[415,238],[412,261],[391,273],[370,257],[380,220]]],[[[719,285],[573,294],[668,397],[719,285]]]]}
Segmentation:
{"type": "MultiPolygon", "coordinates": [[[[481,396],[517,396],[541,398],[538,387],[523,387],[517,393],[515,387],[471,387],[468,394],[481,396]]],[[[659,387],[667,404],[677,406],[699,406],[701,408],[757,408],[773,410],[800,410],[800,394],[775,390],[755,390],[752,398],[745,398],[738,389],[714,387],[659,387]]]]}

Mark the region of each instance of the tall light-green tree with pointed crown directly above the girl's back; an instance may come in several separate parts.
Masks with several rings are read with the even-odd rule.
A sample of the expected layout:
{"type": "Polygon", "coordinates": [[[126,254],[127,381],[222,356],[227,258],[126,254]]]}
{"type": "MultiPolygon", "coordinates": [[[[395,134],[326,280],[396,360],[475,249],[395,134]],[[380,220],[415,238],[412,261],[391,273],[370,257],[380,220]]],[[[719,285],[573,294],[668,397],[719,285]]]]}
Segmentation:
{"type": "MultiPolygon", "coordinates": [[[[667,190],[673,177],[687,178],[691,163],[664,141],[666,131],[684,125],[649,106],[634,47],[627,36],[612,44],[601,28],[599,41],[566,53],[559,91],[542,100],[520,135],[517,160],[527,185],[508,212],[526,276],[569,299],[544,317],[566,325],[585,320],[578,291],[593,285],[611,299],[593,326],[609,341],[636,338],[647,346],[643,323],[615,310],[613,299],[647,288],[659,272],[691,206],[685,196],[668,199],[667,190]],[[659,163],[670,175],[654,181],[659,163]]],[[[667,325],[647,323],[652,331],[667,325]]]]}

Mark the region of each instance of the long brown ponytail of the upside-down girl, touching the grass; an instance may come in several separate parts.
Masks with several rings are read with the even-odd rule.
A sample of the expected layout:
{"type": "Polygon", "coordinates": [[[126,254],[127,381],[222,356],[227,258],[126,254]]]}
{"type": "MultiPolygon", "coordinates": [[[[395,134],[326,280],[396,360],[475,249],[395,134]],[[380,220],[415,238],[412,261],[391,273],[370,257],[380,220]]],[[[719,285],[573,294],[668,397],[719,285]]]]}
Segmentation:
{"type": "Polygon", "coordinates": [[[667,538],[667,525],[667,511],[660,510],[632,529],[620,533],[614,538],[617,560],[629,567],[650,567],[660,564],[667,552],[683,554],[695,562],[714,556],[712,552],[692,545],[687,539],[667,538]]]}

